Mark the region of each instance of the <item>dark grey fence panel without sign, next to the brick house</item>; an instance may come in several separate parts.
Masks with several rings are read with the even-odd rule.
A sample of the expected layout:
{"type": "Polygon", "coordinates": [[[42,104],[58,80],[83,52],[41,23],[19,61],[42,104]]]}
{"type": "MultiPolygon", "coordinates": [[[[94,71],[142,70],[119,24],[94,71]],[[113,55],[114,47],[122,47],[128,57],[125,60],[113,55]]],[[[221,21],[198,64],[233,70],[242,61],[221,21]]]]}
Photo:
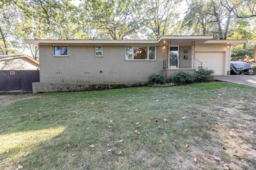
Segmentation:
{"type": "Polygon", "coordinates": [[[39,82],[39,70],[20,70],[21,90],[32,91],[32,83],[39,82]]]}

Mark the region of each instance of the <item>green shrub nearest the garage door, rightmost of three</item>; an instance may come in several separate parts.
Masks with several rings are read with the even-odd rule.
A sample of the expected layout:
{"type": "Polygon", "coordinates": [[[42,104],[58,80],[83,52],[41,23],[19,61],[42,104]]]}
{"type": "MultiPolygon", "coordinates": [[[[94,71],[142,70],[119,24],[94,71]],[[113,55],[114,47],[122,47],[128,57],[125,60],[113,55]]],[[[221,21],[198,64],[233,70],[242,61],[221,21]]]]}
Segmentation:
{"type": "Polygon", "coordinates": [[[203,67],[199,67],[198,71],[196,71],[196,82],[209,82],[212,81],[214,70],[208,70],[203,67]]]}

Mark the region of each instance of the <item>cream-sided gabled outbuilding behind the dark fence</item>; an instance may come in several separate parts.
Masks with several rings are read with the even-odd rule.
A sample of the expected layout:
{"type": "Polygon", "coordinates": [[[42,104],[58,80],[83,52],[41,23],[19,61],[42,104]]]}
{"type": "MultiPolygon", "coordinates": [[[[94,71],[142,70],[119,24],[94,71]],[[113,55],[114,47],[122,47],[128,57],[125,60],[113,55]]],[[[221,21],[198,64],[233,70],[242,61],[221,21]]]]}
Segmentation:
{"type": "Polygon", "coordinates": [[[0,70],[39,70],[39,62],[27,55],[0,55],[0,70]]]}

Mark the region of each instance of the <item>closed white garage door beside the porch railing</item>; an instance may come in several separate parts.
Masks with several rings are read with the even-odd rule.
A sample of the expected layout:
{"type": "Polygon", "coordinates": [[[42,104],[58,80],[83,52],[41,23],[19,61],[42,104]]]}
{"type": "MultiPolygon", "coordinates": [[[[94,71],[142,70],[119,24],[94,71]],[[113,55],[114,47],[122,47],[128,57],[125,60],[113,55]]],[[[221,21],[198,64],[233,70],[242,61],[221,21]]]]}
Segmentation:
{"type": "Polygon", "coordinates": [[[224,75],[224,52],[196,52],[195,58],[204,68],[214,70],[214,75],[224,75]]]}

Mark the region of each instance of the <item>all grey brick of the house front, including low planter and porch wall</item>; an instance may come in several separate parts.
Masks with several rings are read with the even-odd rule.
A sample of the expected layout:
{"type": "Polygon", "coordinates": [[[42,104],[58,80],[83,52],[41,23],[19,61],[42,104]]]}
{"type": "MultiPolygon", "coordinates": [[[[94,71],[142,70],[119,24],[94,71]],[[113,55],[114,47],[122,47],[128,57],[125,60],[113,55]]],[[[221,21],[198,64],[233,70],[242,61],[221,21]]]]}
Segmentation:
{"type": "MultiPolygon", "coordinates": [[[[95,57],[94,48],[93,45],[68,45],[68,56],[54,57],[52,45],[40,45],[40,83],[33,83],[33,92],[144,86],[154,72],[169,78],[179,71],[163,70],[163,61],[168,57],[168,48],[163,46],[156,46],[154,61],[126,61],[125,45],[103,45],[102,57],[95,57]]],[[[190,56],[191,46],[180,46],[180,56],[183,50],[188,50],[190,56]]],[[[194,72],[194,69],[186,71],[194,72]]]]}

